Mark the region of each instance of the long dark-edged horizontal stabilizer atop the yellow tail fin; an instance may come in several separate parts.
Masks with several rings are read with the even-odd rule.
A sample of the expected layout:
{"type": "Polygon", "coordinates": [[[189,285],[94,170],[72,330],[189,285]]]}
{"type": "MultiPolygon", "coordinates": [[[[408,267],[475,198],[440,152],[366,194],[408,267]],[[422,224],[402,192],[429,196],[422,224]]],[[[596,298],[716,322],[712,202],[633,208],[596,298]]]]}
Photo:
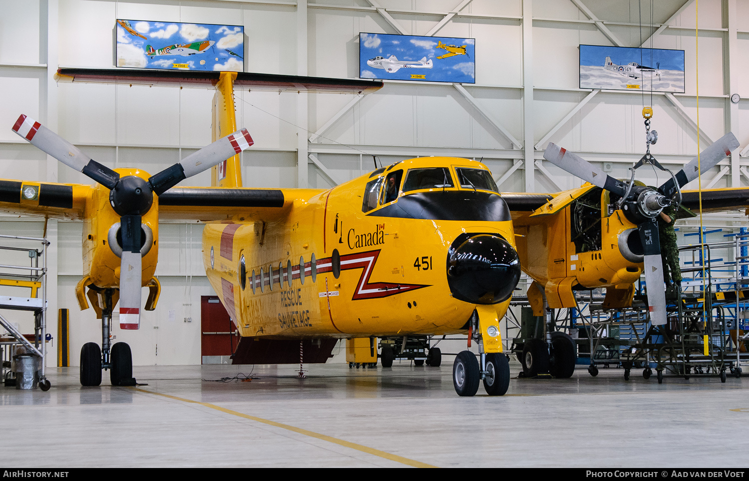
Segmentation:
{"type": "MultiPolygon", "coordinates": [[[[90,82],[122,85],[166,85],[210,88],[219,82],[218,71],[204,70],[153,70],[153,69],[86,69],[60,68],[58,82],[90,82]]],[[[371,94],[382,88],[381,80],[330,79],[275,75],[272,73],[237,73],[234,87],[256,91],[310,91],[338,94],[371,94]]]]}

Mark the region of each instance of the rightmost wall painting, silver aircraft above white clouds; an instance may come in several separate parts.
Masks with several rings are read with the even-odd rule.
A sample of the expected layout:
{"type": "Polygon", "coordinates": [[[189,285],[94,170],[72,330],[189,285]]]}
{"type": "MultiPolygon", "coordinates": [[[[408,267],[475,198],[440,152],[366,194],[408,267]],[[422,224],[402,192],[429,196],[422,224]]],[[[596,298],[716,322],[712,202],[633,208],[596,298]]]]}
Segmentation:
{"type": "Polygon", "coordinates": [[[580,45],[580,88],[684,92],[684,50],[580,45]]]}

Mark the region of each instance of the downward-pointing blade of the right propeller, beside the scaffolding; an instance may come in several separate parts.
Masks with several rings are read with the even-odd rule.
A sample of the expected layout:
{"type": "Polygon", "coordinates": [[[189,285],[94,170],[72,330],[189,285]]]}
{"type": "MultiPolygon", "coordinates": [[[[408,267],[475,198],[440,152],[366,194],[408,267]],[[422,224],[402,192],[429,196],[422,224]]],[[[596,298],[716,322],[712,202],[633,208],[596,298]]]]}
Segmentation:
{"type": "Polygon", "coordinates": [[[658,223],[646,221],[638,227],[640,242],[645,254],[645,282],[648,289],[650,322],[653,325],[666,323],[666,292],[664,289],[661,239],[658,238],[658,223]]]}

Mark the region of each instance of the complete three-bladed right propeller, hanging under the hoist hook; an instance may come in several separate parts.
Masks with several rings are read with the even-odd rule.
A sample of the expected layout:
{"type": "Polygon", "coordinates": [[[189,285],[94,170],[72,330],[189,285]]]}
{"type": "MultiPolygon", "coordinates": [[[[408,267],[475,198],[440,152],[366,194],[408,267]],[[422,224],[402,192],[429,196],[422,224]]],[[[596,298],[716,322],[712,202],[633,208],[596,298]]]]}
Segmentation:
{"type": "MultiPolygon", "coordinates": [[[[729,132],[719,138],[710,147],[694,157],[675,176],[658,189],[646,186],[628,186],[620,180],[605,174],[601,169],[587,162],[575,153],[571,153],[556,144],[549,144],[544,159],[557,167],[586,180],[595,186],[607,189],[622,198],[625,217],[637,224],[640,241],[643,245],[645,281],[648,290],[650,321],[653,325],[666,323],[666,293],[661,288],[664,283],[663,262],[661,260],[661,242],[658,238],[656,218],[664,207],[672,204],[671,198],[691,180],[715,167],[732,150],[739,147],[736,136],[729,132]],[[675,181],[676,180],[676,181],[675,181]],[[676,186],[676,183],[679,186],[676,186]]],[[[652,159],[655,161],[655,159],[652,159]]]]}

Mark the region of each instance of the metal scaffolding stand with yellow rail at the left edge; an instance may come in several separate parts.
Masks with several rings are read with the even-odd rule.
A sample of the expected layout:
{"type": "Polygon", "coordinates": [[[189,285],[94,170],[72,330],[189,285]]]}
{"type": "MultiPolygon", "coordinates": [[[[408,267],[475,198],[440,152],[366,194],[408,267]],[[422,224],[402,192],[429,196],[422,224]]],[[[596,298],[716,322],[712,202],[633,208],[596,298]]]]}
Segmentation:
{"type": "Polygon", "coordinates": [[[28,242],[39,242],[40,247],[27,248],[10,245],[0,245],[0,251],[27,252],[29,265],[0,264],[0,286],[30,289],[28,296],[0,295],[0,309],[29,311],[34,314],[34,334],[22,334],[13,322],[0,315],[0,325],[7,331],[7,335],[0,338],[0,358],[2,358],[2,379],[10,384],[10,371],[13,355],[19,346],[25,352],[37,355],[40,359],[39,385],[42,390],[49,389],[46,379],[45,349],[46,333],[46,298],[47,298],[47,261],[46,251],[49,241],[43,237],[7,236],[0,235],[0,239],[16,239],[28,242]]]}

